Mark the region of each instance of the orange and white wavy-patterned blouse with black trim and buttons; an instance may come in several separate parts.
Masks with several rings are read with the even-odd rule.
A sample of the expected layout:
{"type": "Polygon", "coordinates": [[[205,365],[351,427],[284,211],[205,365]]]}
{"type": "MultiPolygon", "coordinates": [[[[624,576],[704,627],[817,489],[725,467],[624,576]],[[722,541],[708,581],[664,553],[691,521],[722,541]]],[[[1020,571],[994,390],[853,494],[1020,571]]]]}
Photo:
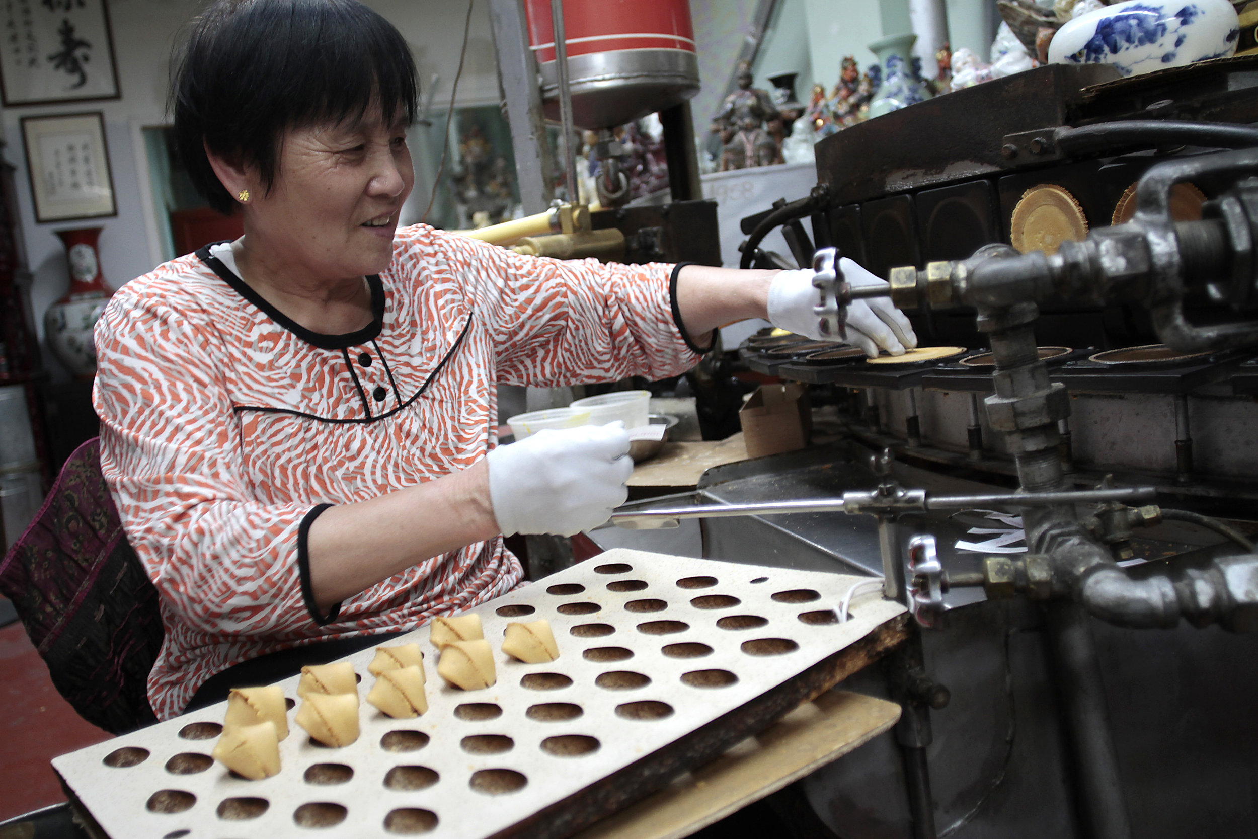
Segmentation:
{"type": "MultiPolygon", "coordinates": [[[[497,443],[496,386],[694,364],[672,265],[521,257],[405,228],[367,278],[374,319],[293,323],[208,249],[123,286],[96,327],[101,467],[161,595],[148,677],[161,720],[210,675],[303,643],[411,629],[522,579],[502,538],[420,562],[320,615],[306,532],[327,504],[472,465],[497,443]]],[[[423,527],[416,522],[416,527],[423,527]]]]}

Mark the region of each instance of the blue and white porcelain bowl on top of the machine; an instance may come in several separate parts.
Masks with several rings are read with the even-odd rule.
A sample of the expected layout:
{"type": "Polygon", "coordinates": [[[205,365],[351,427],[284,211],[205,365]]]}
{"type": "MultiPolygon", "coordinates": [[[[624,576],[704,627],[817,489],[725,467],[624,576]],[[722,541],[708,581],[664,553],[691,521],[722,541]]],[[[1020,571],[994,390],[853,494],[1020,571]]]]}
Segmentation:
{"type": "Polygon", "coordinates": [[[1048,60],[1112,64],[1137,75],[1228,58],[1239,36],[1228,0],[1128,0],[1066,23],[1048,45],[1048,60]]]}

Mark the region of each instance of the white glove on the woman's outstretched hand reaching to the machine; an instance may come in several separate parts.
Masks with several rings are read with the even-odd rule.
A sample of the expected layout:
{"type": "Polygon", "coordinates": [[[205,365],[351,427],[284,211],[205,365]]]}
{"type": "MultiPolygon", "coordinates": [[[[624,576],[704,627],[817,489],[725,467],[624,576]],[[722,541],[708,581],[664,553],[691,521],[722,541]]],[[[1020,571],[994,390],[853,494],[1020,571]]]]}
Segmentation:
{"type": "MultiPolygon", "coordinates": [[[[847,257],[839,260],[839,267],[853,288],[887,284],[847,257]]],[[[769,322],[816,341],[833,340],[821,335],[818,327],[820,318],[813,307],[819,302],[810,268],[780,272],[769,287],[769,322]]],[[[848,306],[848,343],[860,347],[871,358],[878,355],[879,347],[898,356],[917,346],[917,336],[889,297],[871,297],[848,306]]]]}

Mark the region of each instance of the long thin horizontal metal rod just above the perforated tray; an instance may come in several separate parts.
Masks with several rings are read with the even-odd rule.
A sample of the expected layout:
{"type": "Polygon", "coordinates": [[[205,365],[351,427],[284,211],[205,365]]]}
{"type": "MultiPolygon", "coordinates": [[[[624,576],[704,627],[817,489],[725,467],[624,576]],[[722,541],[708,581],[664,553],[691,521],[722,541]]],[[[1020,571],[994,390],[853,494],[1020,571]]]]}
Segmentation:
{"type": "Polygon", "coordinates": [[[1066,492],[1040,492],[1034,494],[991,493],[982,496],[926,496],[921,504],[882,503],[871,499],[868,492],[844,493],[842,498],[810,498],[799,501],[764,501],[745,504],[706,504],[671,507],[660,509],[619,509],[611,513],[613,523],[653,518],[727,518],[731,516],[776,516],[788,513],[852,513],[876,514],[887,512],[915,512],[931,509],[964,509],[969,507],[1053,507],[1057,504],[1094,504],[1111,501],[1152,501],[1154,487],[1121,487],[1117,489],[1079,489],[1066,492]]]}

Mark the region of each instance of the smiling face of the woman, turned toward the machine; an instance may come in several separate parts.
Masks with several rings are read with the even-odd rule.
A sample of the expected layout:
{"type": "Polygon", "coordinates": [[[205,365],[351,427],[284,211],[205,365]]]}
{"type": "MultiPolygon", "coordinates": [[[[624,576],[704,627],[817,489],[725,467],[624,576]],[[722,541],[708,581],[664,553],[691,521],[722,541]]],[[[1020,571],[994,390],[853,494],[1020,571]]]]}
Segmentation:
{"type": "Polygon", "coordinates": [[[360,126],[289,130],[270,192],[259,189],[248,204],[248,245],[309,279],[380,273],[414,185],[404,123],[369,112],[360,126]]]}

